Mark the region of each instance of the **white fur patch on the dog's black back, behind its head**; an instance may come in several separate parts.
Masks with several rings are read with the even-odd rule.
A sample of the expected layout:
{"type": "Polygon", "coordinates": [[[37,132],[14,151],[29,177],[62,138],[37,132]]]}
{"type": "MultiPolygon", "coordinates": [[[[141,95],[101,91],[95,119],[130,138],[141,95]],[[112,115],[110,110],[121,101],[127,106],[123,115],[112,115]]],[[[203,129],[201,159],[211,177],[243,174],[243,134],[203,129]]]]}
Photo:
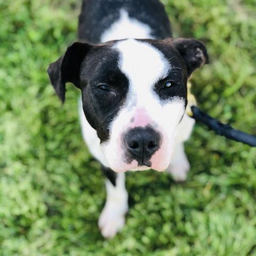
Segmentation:
{"type": "Polygon", "coordinates": [[[124,9],[120,11],[120,18],[109,29],[101,35],[101,42],[125,38],[153,38],[148,25],[129,18],[129,14],[124,9]]]}

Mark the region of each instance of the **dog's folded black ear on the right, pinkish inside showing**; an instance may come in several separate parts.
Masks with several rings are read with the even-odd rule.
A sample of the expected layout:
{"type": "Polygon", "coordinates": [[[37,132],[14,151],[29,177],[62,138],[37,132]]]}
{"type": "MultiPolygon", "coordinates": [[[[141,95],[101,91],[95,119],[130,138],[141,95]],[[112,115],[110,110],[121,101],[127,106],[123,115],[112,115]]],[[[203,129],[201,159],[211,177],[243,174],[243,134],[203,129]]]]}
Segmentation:
{"type": "Polygon", "coordinates": [[[187,66],[188,77],[197,68],[209,63],[209,56],[205,45],[194,38],[168,38],[174,48],[178,50],[181,57],[185,60],[187,66]]]}

